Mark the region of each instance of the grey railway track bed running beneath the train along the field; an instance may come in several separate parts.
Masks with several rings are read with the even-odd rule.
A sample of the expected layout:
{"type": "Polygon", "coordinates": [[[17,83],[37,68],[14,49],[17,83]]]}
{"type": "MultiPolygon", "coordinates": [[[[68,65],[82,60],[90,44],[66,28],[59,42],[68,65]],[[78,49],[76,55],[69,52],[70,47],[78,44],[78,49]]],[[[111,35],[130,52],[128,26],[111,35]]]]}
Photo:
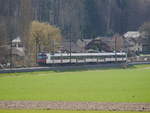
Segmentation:
{"type": "MultiPolygon", "coordinates": [[[[150,64],[150,62],[132,62],[128,66],[150,64]]],[[[124,63],[114,64],[92,64],[92,65],[65,65],[65,66],[47,66],[47,67],[27,67],[27,68],[8,68],[0,69],[0,73],[16,73],[16,72],[34,72],[34,71],[67,71],[67,70],[86,70],[86,69],[100,69],[110,67],[122,67],[124,63]]]]}

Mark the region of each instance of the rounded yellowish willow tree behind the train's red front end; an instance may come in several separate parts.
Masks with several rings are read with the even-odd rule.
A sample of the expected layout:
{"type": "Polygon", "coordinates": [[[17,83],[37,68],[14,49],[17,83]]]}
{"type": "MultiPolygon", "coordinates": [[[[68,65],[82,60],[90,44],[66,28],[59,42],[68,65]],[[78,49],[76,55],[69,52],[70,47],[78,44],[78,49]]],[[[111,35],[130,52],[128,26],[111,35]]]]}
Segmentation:
{"type": "Polygon", "coordinates": [[[60,48],[61,31],[55,26],[33,21],[30,34],[28,46],[33,60],[39,52],[56,52],[60,48]]]}

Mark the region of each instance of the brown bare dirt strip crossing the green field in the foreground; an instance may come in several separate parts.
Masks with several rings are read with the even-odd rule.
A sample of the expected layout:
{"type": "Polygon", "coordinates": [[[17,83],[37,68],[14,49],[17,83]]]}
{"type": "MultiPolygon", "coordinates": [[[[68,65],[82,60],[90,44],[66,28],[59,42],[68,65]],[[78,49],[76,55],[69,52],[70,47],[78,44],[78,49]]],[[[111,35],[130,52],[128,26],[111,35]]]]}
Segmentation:
{"type": "Polygon", "coordinates": [[[150,103],[0,101],[0,109],[150,111],[150,103]]]}

